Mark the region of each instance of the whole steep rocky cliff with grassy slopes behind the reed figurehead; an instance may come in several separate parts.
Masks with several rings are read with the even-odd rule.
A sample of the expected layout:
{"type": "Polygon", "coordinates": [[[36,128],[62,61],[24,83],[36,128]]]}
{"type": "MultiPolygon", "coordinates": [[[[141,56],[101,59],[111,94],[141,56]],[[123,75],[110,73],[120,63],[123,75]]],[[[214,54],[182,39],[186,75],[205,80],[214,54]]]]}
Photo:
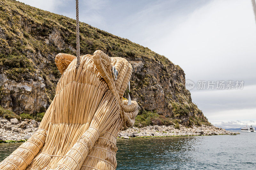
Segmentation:
{"type": "MultiPolygon", "coordinates": [[[[58,53],[76,53],[75,20],[14,0],[0,2],[0,105],[35,115],[51,103],[60,73],[58,53]]],[[[137,126],[179,122],[209,124],[192,103],[185,74],[163,55],[127,39],[80,23],[81,54],[97,49],[133,66],[131,98],[138,101],[137,126]]],[[[124,97],[127,97],[127,91],[124,97]]]]}

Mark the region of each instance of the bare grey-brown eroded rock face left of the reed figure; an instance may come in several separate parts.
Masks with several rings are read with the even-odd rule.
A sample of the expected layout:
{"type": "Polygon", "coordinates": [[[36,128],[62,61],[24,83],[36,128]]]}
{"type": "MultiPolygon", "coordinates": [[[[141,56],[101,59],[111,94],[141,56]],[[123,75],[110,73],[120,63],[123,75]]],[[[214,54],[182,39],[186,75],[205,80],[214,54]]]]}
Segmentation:
{"type": "Polygon", "coordinates": [[[5,109],[12,109],[17,114],[33,113],[42,107],[49,106],[42,78],[36,81],[31,79],[26,82],[16,82],[8,79],[5,74],[0,74],[0,87],[1,106],[5,109]]]}

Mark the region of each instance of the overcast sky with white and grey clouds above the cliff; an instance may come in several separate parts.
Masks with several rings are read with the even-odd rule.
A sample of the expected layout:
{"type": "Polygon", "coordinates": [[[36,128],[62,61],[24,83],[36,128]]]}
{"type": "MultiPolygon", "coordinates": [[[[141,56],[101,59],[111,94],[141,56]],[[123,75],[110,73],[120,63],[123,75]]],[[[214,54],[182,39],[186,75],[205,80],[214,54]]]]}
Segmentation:
{"type": "MultiPolygon", "coordinates": [[[[20,0],[75,18],[74,0],[20,0]]],[[[214,125],[256,127],[256,23],[251,0],[80,0],[79,19],[179,65],[192,100],[214,125]],[[224,81],[224,90],[216,89],[224,81]],[[236,81],[243,89],[226,89],[236,81]],[[206,81],[205,90],[198,90],[206,81]],[[207,89],[208,81],[214,89],[207,89]],[[241,84],[240,84],[241,85],[241,84]],[[199,86],[198,86],[199,87],[199,86]]]]}

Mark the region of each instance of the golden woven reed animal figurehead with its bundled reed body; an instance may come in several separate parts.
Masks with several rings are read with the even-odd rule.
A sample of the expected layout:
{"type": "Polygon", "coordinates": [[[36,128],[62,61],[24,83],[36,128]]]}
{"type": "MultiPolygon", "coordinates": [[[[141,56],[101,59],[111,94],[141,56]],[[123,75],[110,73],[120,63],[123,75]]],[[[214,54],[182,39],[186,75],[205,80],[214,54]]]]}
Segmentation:
{"type": "Polygon", "coordinates": [[[100,50],[80,62],[77,67],[75,56],[56,56],[62,76],[55,97],[38,131],[0,169],[116,169],[116,137],[138,114],[136,101],[123,100],[132,66],[100,50]]]}

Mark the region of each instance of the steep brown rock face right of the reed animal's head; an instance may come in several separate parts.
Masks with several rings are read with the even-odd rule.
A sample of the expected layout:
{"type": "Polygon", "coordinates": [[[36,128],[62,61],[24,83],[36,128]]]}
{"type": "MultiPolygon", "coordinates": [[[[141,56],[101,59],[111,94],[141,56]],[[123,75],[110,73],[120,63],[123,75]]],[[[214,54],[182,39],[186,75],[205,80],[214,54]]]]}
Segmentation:
{"type": "Polygon", "coordinates": [[[192,102],[190,92],[185,88],[185,73],[179,66],[158,54],[152,58],[126,59],[133,67],[130,95],[138,101],[141,110],[179,119],[184,126],[189,125],[190,117],[207,122],[203,113],[192,102]],[[178,103],[181,107],[188,106],[188,113],[174,117],[173,103],[178,103]]]}

